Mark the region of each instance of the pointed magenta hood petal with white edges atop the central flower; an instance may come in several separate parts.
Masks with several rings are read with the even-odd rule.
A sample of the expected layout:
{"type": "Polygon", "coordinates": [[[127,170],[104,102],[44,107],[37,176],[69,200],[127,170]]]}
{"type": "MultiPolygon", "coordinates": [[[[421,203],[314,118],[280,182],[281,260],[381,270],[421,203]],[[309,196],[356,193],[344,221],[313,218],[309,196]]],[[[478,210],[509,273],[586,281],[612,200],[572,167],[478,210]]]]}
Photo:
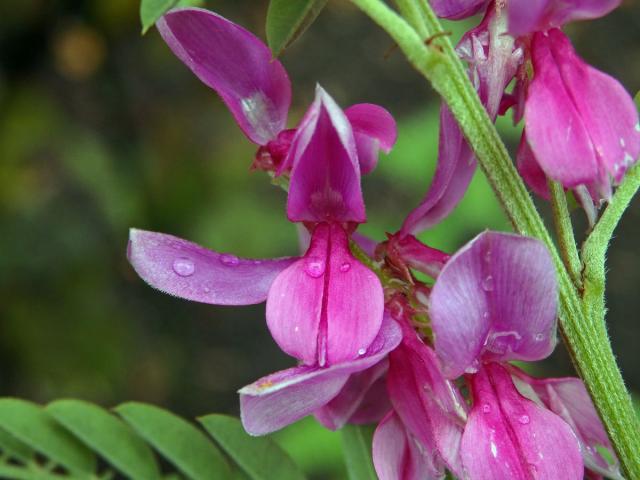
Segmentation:
{"type": "Polygon", "coordinates": [[[287,214],[292,222],[366,220],[360,165],[349,120],[320,87],[293,139],[287,214]]]}

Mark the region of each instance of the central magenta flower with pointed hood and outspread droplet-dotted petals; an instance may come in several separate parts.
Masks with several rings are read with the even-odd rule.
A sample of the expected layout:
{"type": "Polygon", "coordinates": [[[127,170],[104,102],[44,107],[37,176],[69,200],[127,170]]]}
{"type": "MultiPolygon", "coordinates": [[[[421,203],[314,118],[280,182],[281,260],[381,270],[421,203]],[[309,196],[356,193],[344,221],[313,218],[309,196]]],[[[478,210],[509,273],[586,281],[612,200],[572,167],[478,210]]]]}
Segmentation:
{"type": "MultiPolygon", "coordinates": [[[[268,433],[325,406],[336,422],[358,415],[381,418],[386,405],[385,412],[375,413],[372,406],[367,413],[364,397],[349,398],[346,390],[343,405],[339,400],[328,404],[348,387],[352,374],[375,373],[400,342],[395,322],[383,318],[380,281],[349,248],[350,235],[366,220],[361,169],[372,170],[378,151],[388,152],[395,143],[393,118],[371,104],[343,112],[318,86],[299,126],[287,130],[289,80],[259,39],[196,8],[172,10],[158,28],[259,145],[254,166],[290,174],[287,216],[304,223],[310,242],[300,258],[254,260],[132,230],[131,264],[151,286],[188,300],[219,305],[267,301],[273,338],[300,365],[240,391],[249,433],[268,433]]],[[[354,376],[352,383],[359,378],[354,376]]]]}

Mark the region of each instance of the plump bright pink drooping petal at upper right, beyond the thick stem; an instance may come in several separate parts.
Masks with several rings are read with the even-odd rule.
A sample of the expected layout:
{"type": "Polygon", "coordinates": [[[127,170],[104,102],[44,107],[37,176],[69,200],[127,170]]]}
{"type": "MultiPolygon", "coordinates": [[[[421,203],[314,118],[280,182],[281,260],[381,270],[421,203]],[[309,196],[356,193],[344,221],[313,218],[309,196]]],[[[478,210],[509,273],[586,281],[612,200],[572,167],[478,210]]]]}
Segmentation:
{"type": "MultiPolygon", "coordinates": [[[[526,141],[544,173],[565,188],[585,185],[594,200],[608,200],[640,155],[640,125],[633,100],[615,79],[585,64],[557,29],[533,35],[534,77],[525,106],[526,141]]],[[[526,147],[524,147],[526,148],[526,147]]],[[[536,191],[528,152],[519,166],[536,191]]]]}

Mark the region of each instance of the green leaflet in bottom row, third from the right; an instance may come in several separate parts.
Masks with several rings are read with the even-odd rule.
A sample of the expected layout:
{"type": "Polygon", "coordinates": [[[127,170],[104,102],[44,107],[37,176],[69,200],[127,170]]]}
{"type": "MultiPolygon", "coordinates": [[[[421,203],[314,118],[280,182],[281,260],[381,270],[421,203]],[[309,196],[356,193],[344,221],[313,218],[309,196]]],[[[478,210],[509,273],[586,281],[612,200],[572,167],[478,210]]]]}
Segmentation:
{"type": "Polygon", "coordinates": [[[161,477],[151,449],[112,413],[81,400],[58,400],[46,411],[127,477],[161,477]]]}

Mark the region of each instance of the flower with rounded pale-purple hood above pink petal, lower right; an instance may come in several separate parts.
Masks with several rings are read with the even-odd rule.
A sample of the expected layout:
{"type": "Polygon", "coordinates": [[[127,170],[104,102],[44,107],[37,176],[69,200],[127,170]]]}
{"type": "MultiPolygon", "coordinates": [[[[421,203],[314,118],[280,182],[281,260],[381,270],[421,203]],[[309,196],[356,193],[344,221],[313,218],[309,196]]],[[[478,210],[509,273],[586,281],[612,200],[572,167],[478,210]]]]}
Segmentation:
{"type": "Polygon", "coordinates": [[[429,305],[444,375],[467,373],[471,386],[473,407],[460,443],[469,477],[582,478],[570,426],[518,393],[502,365],[540,360],[554,348],[557,284],[545,246],[480,234],[444,266],[429,305]]]}

